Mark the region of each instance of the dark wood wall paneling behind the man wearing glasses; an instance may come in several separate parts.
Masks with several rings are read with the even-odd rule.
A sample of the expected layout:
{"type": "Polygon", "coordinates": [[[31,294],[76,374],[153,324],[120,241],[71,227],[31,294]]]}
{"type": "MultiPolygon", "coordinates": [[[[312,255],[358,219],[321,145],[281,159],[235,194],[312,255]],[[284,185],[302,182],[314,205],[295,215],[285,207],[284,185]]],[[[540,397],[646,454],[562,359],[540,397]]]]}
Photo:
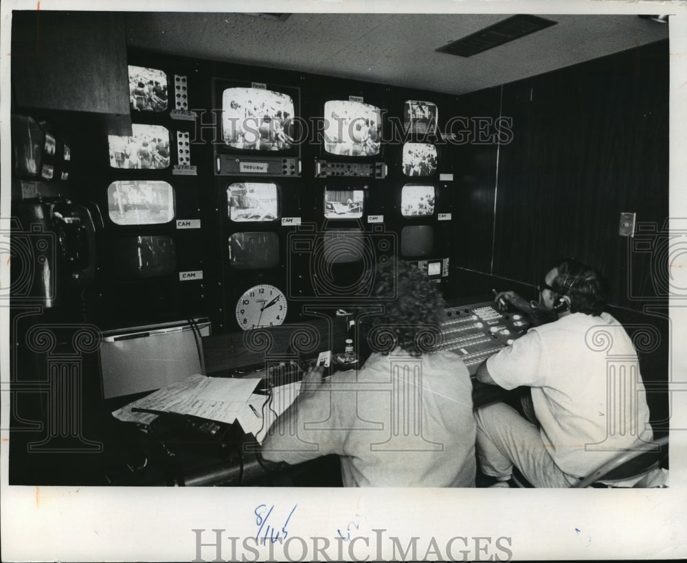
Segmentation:
{"type": "Polygon", "coordinates": [[[606,273],[611,303],[640,309],[657,295],[650,256],[618,224],[668,216],[667,43],[508,84],[502,113],[514,138],[499,152],[493,273],[534,284],[570,255],[606,273]]]}

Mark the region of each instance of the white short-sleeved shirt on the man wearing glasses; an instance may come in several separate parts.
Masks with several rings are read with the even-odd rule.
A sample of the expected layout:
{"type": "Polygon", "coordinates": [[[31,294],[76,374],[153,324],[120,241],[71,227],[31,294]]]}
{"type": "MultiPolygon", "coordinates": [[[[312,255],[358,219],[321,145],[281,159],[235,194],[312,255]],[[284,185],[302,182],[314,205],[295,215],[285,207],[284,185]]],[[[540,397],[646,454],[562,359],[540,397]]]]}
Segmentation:
{"type": "Polygon", "coordinates": [[[486,367],[504,389],[532,388],[543,444],[567,474],[584,476],[653,436],[637,354],[610,314],[532,328],[486,367]]]}

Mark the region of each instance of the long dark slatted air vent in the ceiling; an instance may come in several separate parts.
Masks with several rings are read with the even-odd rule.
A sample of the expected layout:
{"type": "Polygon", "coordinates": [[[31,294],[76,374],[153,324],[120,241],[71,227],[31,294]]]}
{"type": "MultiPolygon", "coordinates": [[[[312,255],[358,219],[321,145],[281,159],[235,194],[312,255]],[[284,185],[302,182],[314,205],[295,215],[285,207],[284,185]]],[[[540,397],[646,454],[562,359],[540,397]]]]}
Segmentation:
{"type": "Polygon", "coordinates": [[[471,57],[555,24],[555,21],[539,16],[518,14],[436,50],[440,53],[471,57]]]}

